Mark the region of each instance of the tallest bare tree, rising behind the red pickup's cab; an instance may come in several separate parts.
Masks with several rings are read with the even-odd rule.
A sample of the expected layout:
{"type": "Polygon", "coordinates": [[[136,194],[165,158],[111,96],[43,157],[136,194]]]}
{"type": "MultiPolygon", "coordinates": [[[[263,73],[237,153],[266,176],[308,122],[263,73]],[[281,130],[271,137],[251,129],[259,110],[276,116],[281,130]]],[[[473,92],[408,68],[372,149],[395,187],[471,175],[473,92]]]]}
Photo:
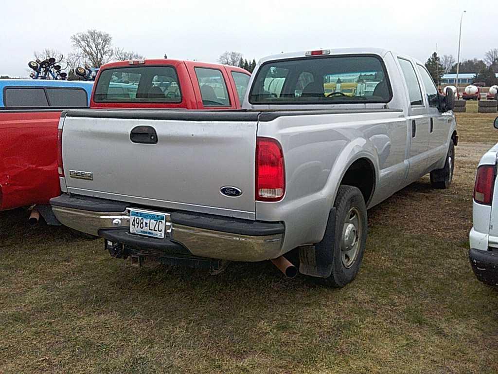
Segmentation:
{"type": "Polygon", "coordinates": [[[87,60],[92,67],[101,67],[113,56],[113,37],[95,29],[71,36],[75,54],[87,60]]]}

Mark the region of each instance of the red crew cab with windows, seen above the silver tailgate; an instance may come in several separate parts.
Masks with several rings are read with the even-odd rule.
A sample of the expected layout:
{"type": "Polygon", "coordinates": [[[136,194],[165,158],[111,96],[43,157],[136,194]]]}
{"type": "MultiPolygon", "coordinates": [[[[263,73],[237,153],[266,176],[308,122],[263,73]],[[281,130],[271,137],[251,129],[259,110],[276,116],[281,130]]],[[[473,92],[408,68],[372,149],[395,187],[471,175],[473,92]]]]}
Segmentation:
{"type": "Polygon", "coordinates": [[[239,109],[249,72],[183,60],[131,60],[103,65],[91,108],[239,109]]]}

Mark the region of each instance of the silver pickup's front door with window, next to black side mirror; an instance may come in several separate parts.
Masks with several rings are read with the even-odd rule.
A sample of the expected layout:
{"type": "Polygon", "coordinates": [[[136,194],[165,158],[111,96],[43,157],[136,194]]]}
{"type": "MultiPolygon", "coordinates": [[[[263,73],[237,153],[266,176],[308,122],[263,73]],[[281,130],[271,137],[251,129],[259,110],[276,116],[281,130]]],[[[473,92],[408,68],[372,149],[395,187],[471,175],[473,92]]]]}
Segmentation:
{"type": "Polygon", "coordinates": [[[449,139],[452,117],[450,112],[439,111],[438,91],[427,69],[420,64],[417,64],[417,68],[425,87],[426,108],[430,118],[427,166],[432,170],[448,152],[446,142],[449,139]]]}

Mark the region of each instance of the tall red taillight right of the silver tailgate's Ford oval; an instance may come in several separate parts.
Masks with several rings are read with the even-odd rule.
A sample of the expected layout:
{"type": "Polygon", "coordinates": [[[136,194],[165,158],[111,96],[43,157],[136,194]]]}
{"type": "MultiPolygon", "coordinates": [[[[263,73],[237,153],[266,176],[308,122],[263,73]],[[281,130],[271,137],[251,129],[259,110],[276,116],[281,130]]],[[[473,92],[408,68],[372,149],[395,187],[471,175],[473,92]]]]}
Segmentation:
{"type": "Polygon", "coordinates": [[[285,193],[285,167],[280,144],[271,138],[256,140],[256,200],[278,201],[285,193]]]}

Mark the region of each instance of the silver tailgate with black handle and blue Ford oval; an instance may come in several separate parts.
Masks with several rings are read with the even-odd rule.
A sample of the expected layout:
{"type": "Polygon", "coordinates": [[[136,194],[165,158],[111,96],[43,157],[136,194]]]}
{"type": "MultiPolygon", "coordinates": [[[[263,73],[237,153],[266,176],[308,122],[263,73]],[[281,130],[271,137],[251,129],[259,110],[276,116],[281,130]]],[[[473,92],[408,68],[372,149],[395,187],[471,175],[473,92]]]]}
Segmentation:
{"type": "Polygon", "coordinates": [[[136,113],[132,118],[117,117],[67,114],[62,152],[68,192],[254,219],[257,117],[203,120],[199,112],[187,116],[196,120],[143,118],[136,113]],[[157,143],[132,141],[130,134],[137,126],[155,130],[157,143]],[[74,178],[74,171],[92,173],[93,180],[74,178]],[[237,187],[242,194],[223,195],[220,189],[226,186],[237,187]]]}

